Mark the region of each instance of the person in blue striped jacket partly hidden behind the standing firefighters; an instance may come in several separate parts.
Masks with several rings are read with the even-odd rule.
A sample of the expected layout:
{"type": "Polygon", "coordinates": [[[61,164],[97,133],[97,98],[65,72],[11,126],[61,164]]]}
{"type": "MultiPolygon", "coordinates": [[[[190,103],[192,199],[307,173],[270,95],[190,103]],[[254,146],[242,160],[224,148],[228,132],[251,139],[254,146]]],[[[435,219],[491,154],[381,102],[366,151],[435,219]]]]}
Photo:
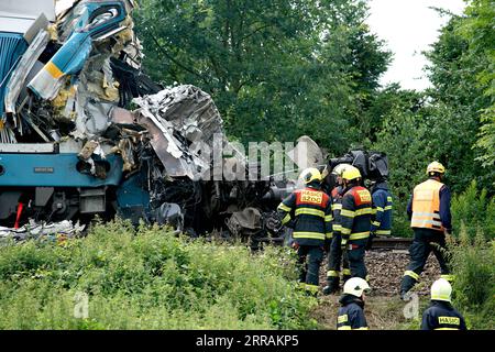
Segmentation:
{"type": "Polygon", "coordinates": [[[367,249],[376,235],[392,234],[392,194],[386,179],[381,178],[371,185],[372,224],[367,249]]]}

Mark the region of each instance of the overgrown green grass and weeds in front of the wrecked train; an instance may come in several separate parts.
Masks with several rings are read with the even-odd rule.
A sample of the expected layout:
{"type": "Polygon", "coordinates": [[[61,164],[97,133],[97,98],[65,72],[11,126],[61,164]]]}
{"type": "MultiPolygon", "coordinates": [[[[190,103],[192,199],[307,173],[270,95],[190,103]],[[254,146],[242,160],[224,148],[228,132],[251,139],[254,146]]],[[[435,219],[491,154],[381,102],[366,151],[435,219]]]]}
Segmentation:
{"type": "Polygon", "coordinates": [[[117,220],[58,245],[0,248],[0,329],[310,329],[294,253],[117,220]],[[75,296],[89,296],[87,319],[75,296]]]}

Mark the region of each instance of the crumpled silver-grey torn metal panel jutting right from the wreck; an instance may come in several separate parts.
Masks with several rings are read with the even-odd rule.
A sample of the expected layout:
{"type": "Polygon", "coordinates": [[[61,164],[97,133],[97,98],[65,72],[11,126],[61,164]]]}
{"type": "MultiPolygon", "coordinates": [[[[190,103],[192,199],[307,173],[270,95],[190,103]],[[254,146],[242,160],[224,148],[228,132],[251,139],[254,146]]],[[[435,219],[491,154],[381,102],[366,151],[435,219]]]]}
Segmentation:
{"type": "Polygon", "coordinates": [[[211,147],[216,133],[223,136],[220,113],[209,95],[184,85],[133,102],[141,107],[136,111],[138,123],[148,129],[151,144],[169,176],[194,179],[209,168],[210,161],[198,155],[195,145],[188,143],[205,142],[211,147]]]}

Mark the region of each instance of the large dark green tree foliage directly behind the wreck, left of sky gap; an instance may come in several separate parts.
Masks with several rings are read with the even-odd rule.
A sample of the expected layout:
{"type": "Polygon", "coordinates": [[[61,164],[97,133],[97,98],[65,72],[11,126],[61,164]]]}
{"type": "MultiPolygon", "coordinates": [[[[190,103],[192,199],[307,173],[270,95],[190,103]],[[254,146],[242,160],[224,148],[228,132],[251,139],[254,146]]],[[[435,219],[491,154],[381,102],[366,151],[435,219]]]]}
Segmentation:
{"type": "Polygon", "coordinates": [[[370,133],[362,112],[391,57],[366,11],[362,0],[144,0],[136,31],[152,77],[211,94],[231,138],[310,134],[338,154],[370,133]]]}

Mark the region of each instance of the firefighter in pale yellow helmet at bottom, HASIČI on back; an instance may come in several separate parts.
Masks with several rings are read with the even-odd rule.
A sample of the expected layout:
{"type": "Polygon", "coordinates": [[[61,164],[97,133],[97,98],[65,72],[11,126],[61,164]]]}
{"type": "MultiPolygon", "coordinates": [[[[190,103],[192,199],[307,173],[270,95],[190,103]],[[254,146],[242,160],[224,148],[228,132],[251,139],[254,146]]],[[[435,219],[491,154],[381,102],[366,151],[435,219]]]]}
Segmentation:
{"type": "Polygon", "coordinates": [[[431,302],[422,314],[421,330],[468,330],[464,318],[451,304],[452,286],[444,278],[431,285],[431,302]]]}

